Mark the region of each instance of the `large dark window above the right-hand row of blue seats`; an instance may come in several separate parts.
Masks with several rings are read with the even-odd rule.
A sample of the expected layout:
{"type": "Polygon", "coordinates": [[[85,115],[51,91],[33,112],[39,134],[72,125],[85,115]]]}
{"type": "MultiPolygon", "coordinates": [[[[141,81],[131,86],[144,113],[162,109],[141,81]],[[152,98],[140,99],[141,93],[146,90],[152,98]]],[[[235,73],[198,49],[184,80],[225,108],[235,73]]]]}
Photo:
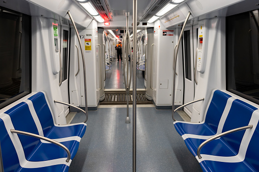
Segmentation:
{"type": "Polygon", "coordinates": [[[258,10],[226,18],[227,90],[259,103],[258,10]]]}

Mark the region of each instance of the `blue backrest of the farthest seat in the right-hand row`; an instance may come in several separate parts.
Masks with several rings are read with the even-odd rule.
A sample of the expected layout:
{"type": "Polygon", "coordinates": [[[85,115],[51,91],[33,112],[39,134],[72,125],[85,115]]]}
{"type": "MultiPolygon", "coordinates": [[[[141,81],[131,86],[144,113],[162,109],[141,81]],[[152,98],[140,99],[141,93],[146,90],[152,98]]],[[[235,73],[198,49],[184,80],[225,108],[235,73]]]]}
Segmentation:
{"type": "Polygon", "coordinates": [[[220,118],[226,107],[227,99],[231,95],[222,92],[220,90],[215,90],[213,92],[211,101],[209,102],[209,107],[205,116],[205,123],[211,127],[211,129],[216,133],[220,118]]]}

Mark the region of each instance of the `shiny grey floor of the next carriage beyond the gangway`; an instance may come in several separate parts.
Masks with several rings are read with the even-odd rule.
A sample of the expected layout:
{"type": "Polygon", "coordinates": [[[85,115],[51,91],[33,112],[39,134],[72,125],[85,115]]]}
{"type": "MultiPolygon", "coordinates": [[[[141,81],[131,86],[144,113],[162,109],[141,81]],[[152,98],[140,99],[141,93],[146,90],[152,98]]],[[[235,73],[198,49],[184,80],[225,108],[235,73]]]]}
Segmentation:
{"type": "MultiPolygon", "coordinates": [[[[122,61],[117,61],[117,58],[112,59],[112,66],[109,71],[106,71],[105,89],[123,89],[125,88],[123,83],[123,65],[122,61]]],[[[136,85],[137,89],[145,88],[144,78],[142,71],[136,71],[136,85]]],[[[132,82],[131,82],[132,88],[132,82]]]]}

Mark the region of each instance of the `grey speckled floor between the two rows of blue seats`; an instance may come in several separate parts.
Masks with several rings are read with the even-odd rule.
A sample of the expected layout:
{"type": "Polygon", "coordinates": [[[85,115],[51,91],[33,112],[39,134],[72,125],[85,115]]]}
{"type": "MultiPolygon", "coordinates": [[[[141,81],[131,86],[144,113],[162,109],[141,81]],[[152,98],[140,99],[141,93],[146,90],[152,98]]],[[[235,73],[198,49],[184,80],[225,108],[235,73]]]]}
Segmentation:
{"type": "MultiPolygon", "coordinates": [[[[137,171],[202,171],[175,130],[171,110],[137,108],[136,114],[137,171]]],[[[126,124],[125,118],[126,108],[89,111],[87,130],[69,172],[132,171],[132,122],[126,124]]],[[[84,119],[79,113],[72,123],[84,119]]],[[[176,114],[176,119],[181,117],[176,114]]]]}

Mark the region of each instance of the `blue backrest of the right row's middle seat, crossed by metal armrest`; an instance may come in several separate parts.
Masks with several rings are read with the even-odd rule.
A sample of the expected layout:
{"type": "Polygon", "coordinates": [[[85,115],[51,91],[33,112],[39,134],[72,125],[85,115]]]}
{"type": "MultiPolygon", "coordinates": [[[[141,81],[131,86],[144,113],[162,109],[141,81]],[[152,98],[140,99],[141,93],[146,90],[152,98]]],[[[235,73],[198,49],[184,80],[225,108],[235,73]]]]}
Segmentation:
{"type": "MultiPolygon", "coordinates": [[[[222,132],[249,125],[249,121],[255,110],[257,108],[240,99],[235,99],[226,117],[222,132]]],[[[233,132],[222,136],[221,139],[237,154],[245,131],[233,132]]]]}

